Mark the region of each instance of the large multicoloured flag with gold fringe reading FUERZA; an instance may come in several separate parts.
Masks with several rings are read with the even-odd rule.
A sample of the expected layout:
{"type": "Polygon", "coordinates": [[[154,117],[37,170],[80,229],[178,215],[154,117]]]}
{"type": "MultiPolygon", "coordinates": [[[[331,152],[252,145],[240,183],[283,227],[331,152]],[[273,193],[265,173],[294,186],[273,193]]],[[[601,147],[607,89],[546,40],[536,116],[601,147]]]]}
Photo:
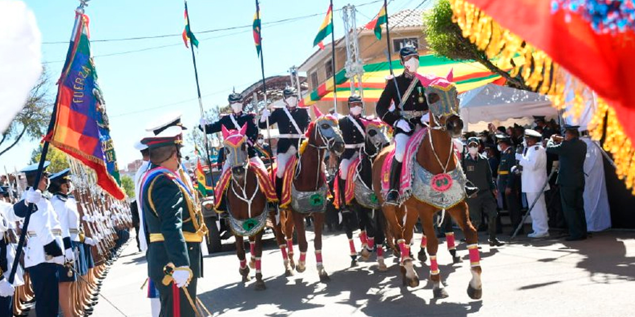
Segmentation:
{"type": "Polygon", "coordinates": [[[44,141],[95,170],[97,184],[116,199],[120,187],[104,94],[90,51],[88,16],[76,13],[69,51],[58,81],[51,126],[44,141]]]}

